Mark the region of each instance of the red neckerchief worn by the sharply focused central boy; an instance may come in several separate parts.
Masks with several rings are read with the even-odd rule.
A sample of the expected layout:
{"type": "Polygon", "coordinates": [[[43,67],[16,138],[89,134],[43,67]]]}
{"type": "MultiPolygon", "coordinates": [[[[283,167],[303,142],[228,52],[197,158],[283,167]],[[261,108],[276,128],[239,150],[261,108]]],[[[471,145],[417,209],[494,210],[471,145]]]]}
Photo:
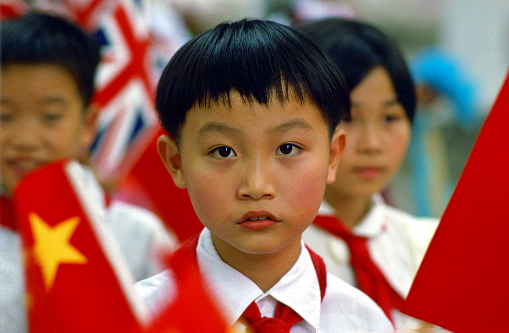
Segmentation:
{"type": "MultiPolygon", "coordinates": [[[[174,256],[185,256],[188,258],[192,265],[198,267],[198,258],[196,255],[198,237],[199,234],[195,235],[187,243],[183,244],[179,249],[177,249],[177,251],[175,251],[174,256]]],[[[325,290],[327,288],[327,270],[325,263],[323,259],[315,252],[313,252],[307,245],[306,248],[309,252],[309,255],[311,256],[313,266],[315,267],[318,276],[320,297],[321,300],[323,300],[323,297],[325,296],[325,290]]],[[[277,303],[275,318],[262,318],[260,310],[254,301],[249,304],[241,318],[245,319],[246,323],[248,324],[248,331],[257,333],[289,332],[289,329],[293,324],[302,320],[302,317],[300,317],[290,307],[281,302],[277,303]],[[278,330],[281,329],[281,325],[284,325],[285,327],[282,328],[282,330],[278,330]]]]}

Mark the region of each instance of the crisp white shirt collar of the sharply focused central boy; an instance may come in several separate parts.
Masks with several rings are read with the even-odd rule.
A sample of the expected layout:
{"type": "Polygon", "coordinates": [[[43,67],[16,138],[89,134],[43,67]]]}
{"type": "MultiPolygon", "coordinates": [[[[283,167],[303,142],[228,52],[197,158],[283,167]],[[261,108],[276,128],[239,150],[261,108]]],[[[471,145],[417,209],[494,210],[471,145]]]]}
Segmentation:
{"type": "Polygon", "coordinates": [[[196,253],[202,275],[213,292],[223,300],[230,326],[235,324],[253,300],[270,295],[291,307],[305,321],[318,329],[320,286],[313,262],[303,242],[296,263],[266,293],[247,276],[221,260],[212,243],[210,231],[206,228],[200,235],[196,253]],[[295,292],[296,290],[299,292],[295,292]]]}

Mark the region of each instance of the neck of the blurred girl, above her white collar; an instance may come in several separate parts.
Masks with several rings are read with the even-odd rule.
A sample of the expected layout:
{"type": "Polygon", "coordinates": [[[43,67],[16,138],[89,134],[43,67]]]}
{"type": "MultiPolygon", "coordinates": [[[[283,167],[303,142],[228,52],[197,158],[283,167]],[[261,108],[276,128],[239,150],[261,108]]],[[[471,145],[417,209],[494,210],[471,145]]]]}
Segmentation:
{"type": "Polygon", "coordinates": [[[348,227],[353,228],[371,208],[371,197],[342,196],[335,192],[325,191],[325,201],[334,208],[338,217],[348,227]]]}

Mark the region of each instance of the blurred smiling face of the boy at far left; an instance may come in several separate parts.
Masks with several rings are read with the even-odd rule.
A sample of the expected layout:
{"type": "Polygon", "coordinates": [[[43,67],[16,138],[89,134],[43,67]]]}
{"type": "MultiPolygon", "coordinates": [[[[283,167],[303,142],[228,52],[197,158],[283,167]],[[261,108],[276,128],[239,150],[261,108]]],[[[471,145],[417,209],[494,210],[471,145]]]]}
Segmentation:
{"type": "Polygon", "coordinates": [[[55,65],[2,69],[0,168],[12,193],[27,172],[62,158],[77,158],[94,134],[73,78],[55,65]]]}

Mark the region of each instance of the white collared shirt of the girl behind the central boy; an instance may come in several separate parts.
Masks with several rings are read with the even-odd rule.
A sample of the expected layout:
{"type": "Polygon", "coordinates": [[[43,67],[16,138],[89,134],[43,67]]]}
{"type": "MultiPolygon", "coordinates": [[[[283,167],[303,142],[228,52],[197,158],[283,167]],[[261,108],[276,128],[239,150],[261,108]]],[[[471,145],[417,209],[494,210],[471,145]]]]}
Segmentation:
{"type": "MultiPolygon", "coordinates": [[[[322,202],[319,215],[335,215],[322,202]]],[[[406,298],[429,242],[438,226],[436,218],[415,217],[383,202],[380,195],[373,197],[373,205],[352,232],[368,238],[371,257],[384,273],[392,288],[406,298]]],[[[327,271],[355,286],[355,275],[350,266],[350,252],[344,240],[311,225],[302,235],[304,242],[318,253],[327,271]]],[[[410,317],[395,313],[398,327],[415,327],[410,317]]]]}

